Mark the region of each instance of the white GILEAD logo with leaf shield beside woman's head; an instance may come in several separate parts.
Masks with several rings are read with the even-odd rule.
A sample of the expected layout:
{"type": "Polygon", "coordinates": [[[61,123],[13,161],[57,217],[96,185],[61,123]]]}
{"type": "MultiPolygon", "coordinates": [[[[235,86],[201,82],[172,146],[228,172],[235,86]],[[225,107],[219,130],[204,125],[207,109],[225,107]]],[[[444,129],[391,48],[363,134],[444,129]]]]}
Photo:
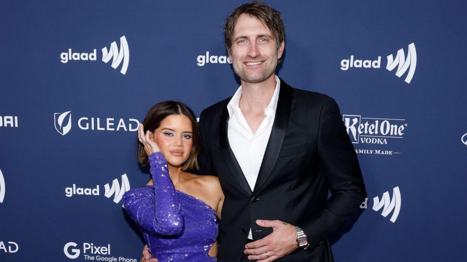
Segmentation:
{"type": "MultiPolygon", "coordinates": [[[[98,131],[137,131],[140,121],[134,118],[104,118],[100,117],[80,117],[78,128],[81,130],[98,131]],[[115,127],[116,126],[116,127],[115,127]]],[[[61,135],[66,135],[72,129],[72,112],[54,113],[55,130],[61,135]]]]}

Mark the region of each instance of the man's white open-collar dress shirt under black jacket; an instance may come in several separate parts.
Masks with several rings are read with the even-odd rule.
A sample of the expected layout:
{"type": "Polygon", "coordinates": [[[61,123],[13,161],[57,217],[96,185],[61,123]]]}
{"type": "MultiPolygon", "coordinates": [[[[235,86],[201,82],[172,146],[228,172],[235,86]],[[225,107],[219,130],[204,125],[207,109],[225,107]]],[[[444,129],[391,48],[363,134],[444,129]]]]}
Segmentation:
{"type": "MultiPolygon", "coordinates": [[[[229,104],[227,104],[227,109],[229,111],[229,144],[243,171],[243,175],[245,175],[250,185],[251,191],[253,191],[256,179],[258,178],[259,168],[263,162],[264,153],[272,130],[272,124],[274,123],[274,117],[276,115],[281,83],[277,76],[275,76],[275,80],[276,88],[272,94],[269,105],[264,109],[265,118],[255,133],[251,131],[245,116],[238,106],[243,94],[241,85],[229,104]]],[[[251,229],[248,238],[253,239],[251,229]]]]}

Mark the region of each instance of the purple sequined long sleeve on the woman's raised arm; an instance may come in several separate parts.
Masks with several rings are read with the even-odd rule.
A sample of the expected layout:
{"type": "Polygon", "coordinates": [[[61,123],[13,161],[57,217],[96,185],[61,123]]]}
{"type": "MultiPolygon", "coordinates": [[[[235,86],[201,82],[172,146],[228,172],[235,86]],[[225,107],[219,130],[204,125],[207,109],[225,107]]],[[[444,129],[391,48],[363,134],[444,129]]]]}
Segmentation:
{"type": "Polygon", "coordinates": [[[149,234],[180,235],[184,229],[183,213],[162,152],[149,155],[149,164],[154,186],[126,192],[123,196],[126,213],[149,234]]]}

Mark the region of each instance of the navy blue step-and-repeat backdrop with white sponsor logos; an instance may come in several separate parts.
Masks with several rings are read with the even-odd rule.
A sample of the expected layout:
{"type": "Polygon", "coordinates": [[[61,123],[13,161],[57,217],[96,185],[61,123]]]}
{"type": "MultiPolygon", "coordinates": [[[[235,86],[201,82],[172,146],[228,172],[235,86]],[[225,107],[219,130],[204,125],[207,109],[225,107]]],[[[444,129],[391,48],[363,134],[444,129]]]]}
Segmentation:
{"type": "MultiPolygon", "coordinates": [[[[336,99],[366,183],[335,260],[466,261],[467,4],[267,2],[286,26],[277,74],[336,99]]],[[[139,261],[121,201],[150,178],[138,124],[234,94],[221,27],[241,3],[0,2],[1,262],[139,261]]]]}

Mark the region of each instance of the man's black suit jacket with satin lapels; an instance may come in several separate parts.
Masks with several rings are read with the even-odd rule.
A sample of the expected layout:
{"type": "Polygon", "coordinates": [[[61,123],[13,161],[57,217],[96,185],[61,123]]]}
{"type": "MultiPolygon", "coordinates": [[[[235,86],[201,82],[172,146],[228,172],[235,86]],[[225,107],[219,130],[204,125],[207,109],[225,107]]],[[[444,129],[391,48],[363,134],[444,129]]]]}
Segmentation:
{"type": "Polygon", "coordinates": [[[272,232],[257,226],[256,219],[279,219],[299,226],[308,236],[307,250],[299,248],[277,261],[333,261],[327,237],[359,209],[366,196],[357,155],[334,99],[292,88],[282,79],[280,88],[253,191],[229,146],[231,98],[200,115],[199,173],[217,175],[225,195],[219,262],[240,261],[250,228],[253,240],[272,232]]]}

